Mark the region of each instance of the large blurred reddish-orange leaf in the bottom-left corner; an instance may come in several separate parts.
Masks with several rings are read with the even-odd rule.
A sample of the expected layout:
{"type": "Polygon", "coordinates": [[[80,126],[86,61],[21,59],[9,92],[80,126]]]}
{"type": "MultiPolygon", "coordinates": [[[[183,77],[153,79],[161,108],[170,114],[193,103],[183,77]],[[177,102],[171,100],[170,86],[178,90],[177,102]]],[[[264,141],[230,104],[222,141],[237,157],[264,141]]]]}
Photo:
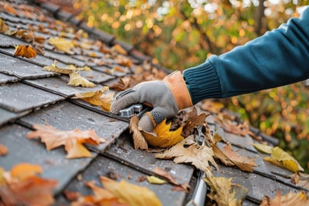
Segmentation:
{"type": "Polygon", "coordinates": [[[52,190],[56,185],[56,180],[28,177],[7,187],[0,187],[0,197],[4,205],[52,205],[55,202],[52,190]]]}

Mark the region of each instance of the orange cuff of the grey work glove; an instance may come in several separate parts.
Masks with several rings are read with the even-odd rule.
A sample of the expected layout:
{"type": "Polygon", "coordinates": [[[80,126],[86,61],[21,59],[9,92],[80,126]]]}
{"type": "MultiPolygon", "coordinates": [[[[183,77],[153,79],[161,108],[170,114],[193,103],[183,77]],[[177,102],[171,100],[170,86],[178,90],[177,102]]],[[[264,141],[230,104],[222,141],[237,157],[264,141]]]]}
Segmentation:
{"type": "Polygon", "coordinates": [[[193,106],[186,82],[184,82],[184,77],[182,77],[182,72],[172,72],[172,74],[164,77],[163,82],[165,82],[172,91],[178,109],[185,109],[193,106]]]}

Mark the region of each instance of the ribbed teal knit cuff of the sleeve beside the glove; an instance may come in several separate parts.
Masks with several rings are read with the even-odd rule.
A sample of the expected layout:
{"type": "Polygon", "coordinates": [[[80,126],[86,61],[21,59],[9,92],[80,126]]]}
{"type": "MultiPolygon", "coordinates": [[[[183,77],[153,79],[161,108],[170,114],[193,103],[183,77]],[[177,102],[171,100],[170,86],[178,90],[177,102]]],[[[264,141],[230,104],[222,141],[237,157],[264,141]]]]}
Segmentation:
{"type": "Polygon", "coordinates": [[[209,60],[182,72],[192,103],[197,104],[208,98],[221,98],[219,77],[209,60]]]}

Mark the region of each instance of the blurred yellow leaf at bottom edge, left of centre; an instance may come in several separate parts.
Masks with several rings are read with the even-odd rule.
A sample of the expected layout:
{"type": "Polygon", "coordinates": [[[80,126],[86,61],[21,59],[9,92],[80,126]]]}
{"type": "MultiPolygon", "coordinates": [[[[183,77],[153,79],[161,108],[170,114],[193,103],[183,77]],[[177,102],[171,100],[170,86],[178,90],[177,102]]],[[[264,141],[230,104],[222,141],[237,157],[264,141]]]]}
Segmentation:
{"type": "Polygon", "coordinates": [[[146,187],[139,187],[121,180],[119,183],[100,176],[100,180],[104,188],[110,191],[113,195],[118,197],[120,202],[131,206],[159,206],[162,203],[158,197],[146,187]]]}

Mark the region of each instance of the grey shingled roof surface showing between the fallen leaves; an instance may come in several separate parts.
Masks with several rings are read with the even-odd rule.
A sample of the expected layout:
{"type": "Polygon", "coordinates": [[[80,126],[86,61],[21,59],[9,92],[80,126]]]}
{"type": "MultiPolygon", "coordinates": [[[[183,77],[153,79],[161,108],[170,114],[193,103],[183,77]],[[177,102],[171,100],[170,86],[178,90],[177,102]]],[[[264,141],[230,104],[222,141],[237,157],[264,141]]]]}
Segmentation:
{"type": "MultiPolygon", "coordinates": [[[[153,153],[135,150],[132,136],[127,131],[128,119],[104,112],[79,99],[71,99],[75,93],[99,90],[103,85],[110,86],[118,77],[132,75],[137,67],[144,72],[151,72],[151,58],[143,55],[132,45],[123,43],[108,33],[97,28],[90,28],[71,13],[51,3],[34,4],[33,1],[0,1],[0,18],[13,31],[17,28],[30,30],[34,28],[35,36],[41,36],[43,54],[36,58],[14,56],[14,45],[30,44],[27,38],[0,34],[0,143],[9,149],[6,156],[0,156],[0,166],[10,170],[17,163],[36,163],[43,168],[43,178],[58,180],[54,195],[56,205],[68,205],[63,191],[90,193],[83,185],[86,180],[100,183],[99,175],[109,176],[117,172],[121,178],[136,185],[146,186],[154,191],[163,205],[185,205],[194,193],[197,175],[194,167],[187,164],[175,164],[171,160],[156,159],[153,153]],[[9,7],[14,10],[8,9],[9,7]],[[31,14],[31,15],[29,15],[31,14]],[[39,28],[45,28],[40,30],[39,28]],[[88,36],[76,37],[83,29],[88,36]],[[89,47],[78,47],[72,53],[56,50],[48,44],[48,38],[63,37],[75,40],[78,44],[88,43],[89,47]],[[104,45],[110,53],[100,50],[104,45]],[[121,45],[126,53],[113,50],[114,45],[121,45]],[[117,58],[127,58],[132,62],[130,67],[123,66],[117,58]],[[73,64],[77,67],[88,65],[92,72],[81,72],[86,79],[95,82],[96,87],[72,87],[67,85],[68,77],[42,70],[57,60],[58,67],[73,64]],[[115,70],[115,67],[122,69],[115,70]],[[33,124],[50,124],[59,130],[95,130],[98,136],[107,142],[100,146],[87,146],[92,158],[66,159],[63,147],[47,151],[40,141],[26,138],[33,124]],[[140,176],[153,175],[152,169],[159,166],[167,170],[180,183],[190,183],[189,194],[174,191],[173,185],[154,185],[147,181],[137,182],[140,176]]],[[[159,65],[152,68],[161,70],[159,65]]],[[[164,70],[164,68],[163,68],[164,70]]],[[[164,70],[166,71],[166,70],[164,70]]],[[[199,105],[197,105],[199,108],[199,105]]],[[[205,112],[199,109],[200,112],[205,112]]],[[[244,173],[238,168],[219,165],[214,175],[233,177],[233,182],[248,189],[243,205],[258,205],[264,195],[274,197],[276,190],[283,194],[289,190],[302,188],[285,178],[293,173],[263,161],[263,155],[256,151],[251,143],[256,142],[251,136],[229,134],[209,116],[206,119],[212,131],[217,131],[224,139],[230,141],[234,149],[246,156],[256,157],[258,166],[253,173],[244,173]],[[281,175],[278,175],[281,174],[281,175]]],[[[256,134],[260,132],[252,129],[256,134]]],[[[260,134],[264,141],[276,144],[276,139],[260,134]]],[[[220,145],[220,143],[219,143],[220,145]]]]}

